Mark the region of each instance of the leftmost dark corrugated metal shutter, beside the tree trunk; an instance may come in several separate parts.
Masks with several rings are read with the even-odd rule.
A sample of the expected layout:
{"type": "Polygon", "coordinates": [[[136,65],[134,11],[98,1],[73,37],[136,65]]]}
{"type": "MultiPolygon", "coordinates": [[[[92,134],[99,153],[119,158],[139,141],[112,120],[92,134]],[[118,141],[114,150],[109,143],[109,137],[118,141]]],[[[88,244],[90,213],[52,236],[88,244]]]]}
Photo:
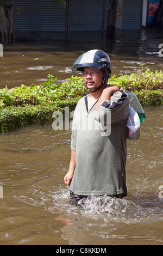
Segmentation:
{"type": "Polygon", "coordinates": [[[52,0],[15,0],[13,29],[15,31],[65,31],[66,10],[52,0]],[[18,13],[17,7],[20,8],[18,13]]]}

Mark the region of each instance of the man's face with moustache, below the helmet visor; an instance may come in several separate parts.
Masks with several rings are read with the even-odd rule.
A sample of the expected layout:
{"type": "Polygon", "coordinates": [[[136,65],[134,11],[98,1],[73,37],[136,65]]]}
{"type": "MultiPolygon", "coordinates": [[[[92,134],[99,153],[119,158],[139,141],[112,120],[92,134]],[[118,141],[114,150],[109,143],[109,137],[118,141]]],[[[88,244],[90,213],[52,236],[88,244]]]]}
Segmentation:
{"type": "Polygon", "coordinates": [[[95,71],[89,67],[85,67],[83,69],[83,81],[84,81],[86,88],[90,92],[93,92],[103,82],[103,70],[99,69],[99,70],[95,71]]]}

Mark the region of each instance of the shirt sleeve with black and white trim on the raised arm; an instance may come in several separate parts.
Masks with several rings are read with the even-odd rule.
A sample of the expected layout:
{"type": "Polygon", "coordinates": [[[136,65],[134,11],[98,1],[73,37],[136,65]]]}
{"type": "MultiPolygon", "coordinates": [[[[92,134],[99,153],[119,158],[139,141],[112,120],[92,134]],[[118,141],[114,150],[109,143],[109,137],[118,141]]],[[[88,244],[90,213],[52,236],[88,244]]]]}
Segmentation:
{"type": "MultiPolygon", "coordinates": [[[[102,103],[95,119],[101,123],[106,122],[106,115],[110,115],[110,123],[127,121],[129,114],[129,99],[125,92],[118,91],[111,95],[110,100],[102,103]]],[[[107,124],[107,123],[106,123],[107,124]]]]}

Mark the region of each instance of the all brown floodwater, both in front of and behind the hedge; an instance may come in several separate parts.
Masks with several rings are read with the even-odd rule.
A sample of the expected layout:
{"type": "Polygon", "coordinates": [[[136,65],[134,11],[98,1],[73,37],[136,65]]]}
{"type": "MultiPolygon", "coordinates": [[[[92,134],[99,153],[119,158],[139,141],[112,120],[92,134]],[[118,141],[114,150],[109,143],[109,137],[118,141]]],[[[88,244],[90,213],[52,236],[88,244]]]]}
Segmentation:
{"type": "MultiPolygon", "coordinates": [[[[64,81],[72,75],[76,57],[91,48],[107,50],[116,75],[136,72],[140,65],[161,70],[161,40],[158,32],[141,31],[135,37],[122,36],[115,44],[4,46],[1,88],[40,83],[48,74],[64,81]]],[[[144,109],[140,138],[127,141],[128,196],[92,197],[81,209],[69,205],[63,181],[71,130],[54,131],[49,123],[1,134],[0,245],[162,245],[163,106],[144,109]]]]}

